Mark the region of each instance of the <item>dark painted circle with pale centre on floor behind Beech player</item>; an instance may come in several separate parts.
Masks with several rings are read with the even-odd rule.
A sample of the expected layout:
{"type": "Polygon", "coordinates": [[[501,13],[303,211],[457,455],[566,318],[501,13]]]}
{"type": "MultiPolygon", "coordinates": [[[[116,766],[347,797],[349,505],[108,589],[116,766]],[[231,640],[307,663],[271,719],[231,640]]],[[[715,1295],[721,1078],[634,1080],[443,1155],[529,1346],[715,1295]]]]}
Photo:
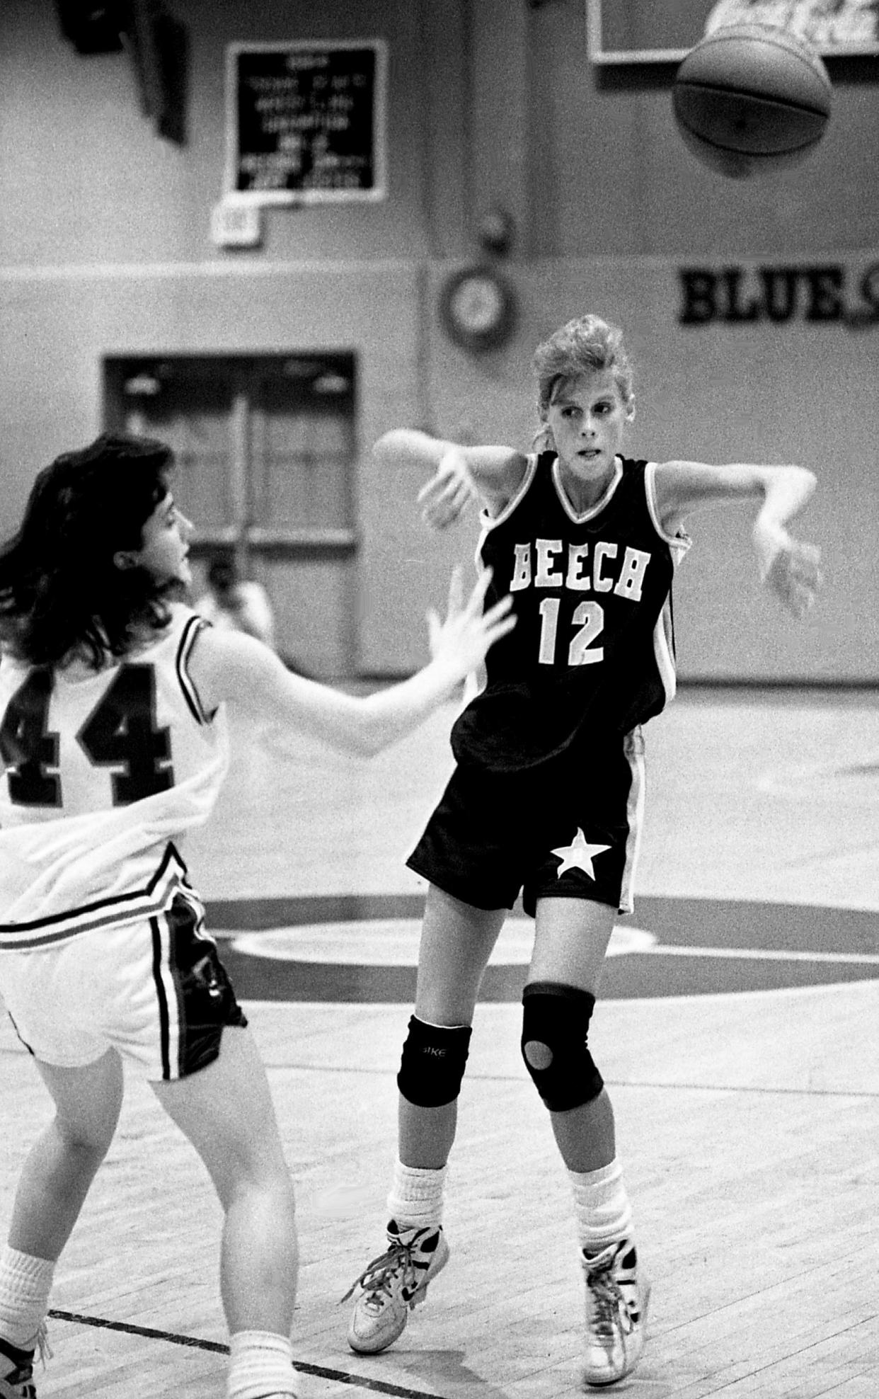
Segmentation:
{"type": "MultiPolygon", "coordinates": [[[[207,926],[242,1000],[412,1002],[423,897],[219,900],[207,926]]],[[[534,925],[514,911],[481,1000],[521,997],[534,925]]],[[[613,929],[602,1000],[706,996],[879,978],[879,915],[847,908],[639,898],[613,929]]]]}

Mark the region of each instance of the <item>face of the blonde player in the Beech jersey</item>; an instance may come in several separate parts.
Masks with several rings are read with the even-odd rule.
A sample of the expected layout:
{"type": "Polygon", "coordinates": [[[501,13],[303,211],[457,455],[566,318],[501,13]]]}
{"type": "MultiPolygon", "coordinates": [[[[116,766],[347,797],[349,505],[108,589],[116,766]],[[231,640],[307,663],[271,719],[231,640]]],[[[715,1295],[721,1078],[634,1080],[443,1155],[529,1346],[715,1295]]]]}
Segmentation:
{"type": "Polygon", "coordinates": [[[601,488],[613,473],[629,417],[612,369],[562,379],[546,414],[562,469],[601,488]]]}

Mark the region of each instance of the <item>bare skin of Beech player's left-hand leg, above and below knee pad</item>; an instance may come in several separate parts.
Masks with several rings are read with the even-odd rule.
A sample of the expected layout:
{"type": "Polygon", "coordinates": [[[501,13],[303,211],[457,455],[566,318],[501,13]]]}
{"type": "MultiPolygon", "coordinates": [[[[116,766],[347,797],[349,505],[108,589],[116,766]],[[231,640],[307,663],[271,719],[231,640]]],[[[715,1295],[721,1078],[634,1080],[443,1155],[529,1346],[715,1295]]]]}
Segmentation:
{"type": "MultiPolygon", "coordinates": [[[[506,909],[463,904],[430,886],[418,958],[415,1014],[432,1025],[470,1025],[482,974],[506,909]]],[[[419,1108],[400,1097],[400,1160],[422,1170],[446,1165],[458,1107],[419,1108]]]]}

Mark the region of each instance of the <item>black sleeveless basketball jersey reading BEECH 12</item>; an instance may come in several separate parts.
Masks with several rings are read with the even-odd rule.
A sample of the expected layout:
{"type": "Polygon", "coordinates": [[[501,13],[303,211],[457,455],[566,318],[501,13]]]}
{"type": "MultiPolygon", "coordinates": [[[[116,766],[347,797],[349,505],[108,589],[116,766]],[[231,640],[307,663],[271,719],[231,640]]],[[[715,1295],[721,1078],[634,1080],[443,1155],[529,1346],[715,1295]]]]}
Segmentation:
{"type": "Polygon", "coordinates": [[[513,597],[516,627],[489,651],[485,687],[451,734],[458,762],[518,771],[579,734],[629,733],[675,693],[671,585],[689,548],[660,523],[654,464],[616,459],[584,513],[552,452],[530,457],[500,515],[484,515],[486,607],[513,597]]]}

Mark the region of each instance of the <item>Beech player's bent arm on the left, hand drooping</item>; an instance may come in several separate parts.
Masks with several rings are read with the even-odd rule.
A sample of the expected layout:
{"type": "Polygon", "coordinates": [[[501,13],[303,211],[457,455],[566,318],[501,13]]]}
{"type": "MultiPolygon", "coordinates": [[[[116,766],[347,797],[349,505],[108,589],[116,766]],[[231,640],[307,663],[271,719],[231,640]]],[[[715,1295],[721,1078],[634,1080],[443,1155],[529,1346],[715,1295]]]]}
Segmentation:
{"type": "Polygon", "coordinates": [[[497,515],[518,490],[527,467],[527,457],[510,446],[458,446],[415,428],[386,432],[373,450],[379,460],[430,473],[418,502],[433,529],[447,529],[468,501],[497,515]]]}

